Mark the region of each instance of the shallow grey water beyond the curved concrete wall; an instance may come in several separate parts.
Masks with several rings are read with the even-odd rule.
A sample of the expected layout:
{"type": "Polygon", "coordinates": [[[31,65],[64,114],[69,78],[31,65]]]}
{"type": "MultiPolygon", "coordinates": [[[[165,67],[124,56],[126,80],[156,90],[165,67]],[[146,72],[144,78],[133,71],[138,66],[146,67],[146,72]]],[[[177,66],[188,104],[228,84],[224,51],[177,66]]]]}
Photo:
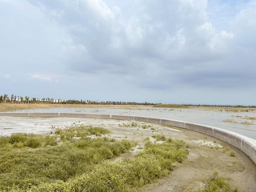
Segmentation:
{"type": "MultiPolygon", "coordinates": [[[[173,119],[186,121],[191,123],[199,123],[221,129],[233,131],[256,139],[256,125],[244,125],[240,123],[225,123],[225,119],[233,119],[237,122],[247,121],[240,119],[236,115],[256,115],[256,112],[224,112],[224,111],[208,111],[204,109],[174,109],[141,107],[143,110],[129,110],[117,108],[50,108],[50,109],[26,109],[11,112],[62,112],[62,113],[99,113],[99,114],[124,114],[147,116],[155,118],[173,119]],[[231,117],[230,115],[235,115],[231,117]]],[[[256,120],[254,120],[256,121],[256,120]]]]}

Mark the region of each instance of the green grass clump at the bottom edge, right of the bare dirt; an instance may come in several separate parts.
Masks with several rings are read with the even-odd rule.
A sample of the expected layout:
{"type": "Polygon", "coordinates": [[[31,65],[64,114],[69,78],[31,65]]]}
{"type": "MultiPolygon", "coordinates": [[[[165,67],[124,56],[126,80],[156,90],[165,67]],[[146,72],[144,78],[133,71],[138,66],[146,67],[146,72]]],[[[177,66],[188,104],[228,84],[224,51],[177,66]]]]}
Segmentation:
{"type": "Polygon", "coordinates": [[[213,176],[207,182],[206,187],[199,192],[230,192],[231,187],[229,185],[229,177],[224,175],[219,176],[217,169],[214,170],[213,176]]]}

